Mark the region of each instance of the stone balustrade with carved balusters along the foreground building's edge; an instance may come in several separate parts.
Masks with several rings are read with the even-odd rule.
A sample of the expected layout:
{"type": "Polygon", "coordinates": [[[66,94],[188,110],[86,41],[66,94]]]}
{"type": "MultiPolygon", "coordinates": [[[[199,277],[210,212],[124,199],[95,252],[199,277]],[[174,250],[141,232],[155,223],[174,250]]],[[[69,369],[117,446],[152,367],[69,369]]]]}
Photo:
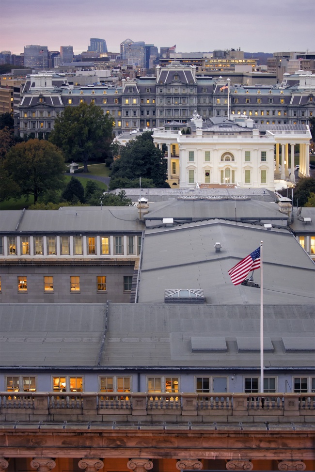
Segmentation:
{"type": "Polygon", "coordinates": [[[21,414],[24,420],[25,415],[46,415],[47,421],[69,414],[94,415],[98,421],[117,414],[176,415],[177,420],[203,415],[306,417],[315,413],[315,393],[1,392],[0,413],[8,421],[21,414]]]}

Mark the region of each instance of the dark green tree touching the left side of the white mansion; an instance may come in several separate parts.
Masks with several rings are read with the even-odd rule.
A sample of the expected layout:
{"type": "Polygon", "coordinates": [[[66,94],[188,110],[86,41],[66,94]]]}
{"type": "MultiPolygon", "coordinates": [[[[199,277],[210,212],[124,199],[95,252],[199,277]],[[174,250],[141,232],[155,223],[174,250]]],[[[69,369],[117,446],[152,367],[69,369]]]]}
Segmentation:
{"type": "Polygon", "coordinates": [[[122,148],[121,156],[112,164],[111,177],[137,180],[152,179],[155,187],[162,187],[167,178],[164,153],[153,143],[152,132],[146,131],[122,148]]]}

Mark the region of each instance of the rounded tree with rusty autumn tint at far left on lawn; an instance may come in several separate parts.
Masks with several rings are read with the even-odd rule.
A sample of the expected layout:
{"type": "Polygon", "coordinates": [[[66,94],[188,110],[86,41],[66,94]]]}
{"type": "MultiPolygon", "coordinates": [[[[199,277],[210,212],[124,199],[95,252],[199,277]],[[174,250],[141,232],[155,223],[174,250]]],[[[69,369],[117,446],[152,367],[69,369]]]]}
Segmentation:
{"type": "Polygon", "coordinates": [[[51,142],[34,139],[16,144],[8,151],[3,167],[18,187],[4,198],[33,195],[36,203],[47,190],[63,187],[63,154],[51,142]]]}

